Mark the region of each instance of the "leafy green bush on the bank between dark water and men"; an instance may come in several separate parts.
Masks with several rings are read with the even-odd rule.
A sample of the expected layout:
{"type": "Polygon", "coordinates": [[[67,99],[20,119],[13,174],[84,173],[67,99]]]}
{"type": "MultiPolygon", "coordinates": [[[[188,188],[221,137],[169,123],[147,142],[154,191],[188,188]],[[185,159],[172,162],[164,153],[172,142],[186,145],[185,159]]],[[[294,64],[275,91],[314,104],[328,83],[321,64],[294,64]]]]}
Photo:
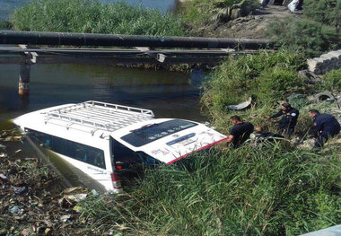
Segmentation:
{"type": "Polygon", "coordinates": [[[274,99],[281,100],[286,92],[302,86],[295,75],[302,65],[300,55],[285,51],[230,57],[205,83],[202,101],[211,113],[225,110],[226,105],[245,101],[252,95],[262,104],[274,104],[274,99]],[[275,90],[274,95],[266,96],[275,90]]]}

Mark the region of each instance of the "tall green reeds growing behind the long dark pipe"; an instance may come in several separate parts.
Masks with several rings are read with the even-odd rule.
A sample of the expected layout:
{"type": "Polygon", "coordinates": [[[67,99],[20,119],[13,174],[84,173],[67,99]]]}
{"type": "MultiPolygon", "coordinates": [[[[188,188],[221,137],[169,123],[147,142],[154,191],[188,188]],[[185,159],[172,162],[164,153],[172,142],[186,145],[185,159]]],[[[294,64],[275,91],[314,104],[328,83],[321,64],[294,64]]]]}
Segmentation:
{"type": "Polygon", "coordinates": [[[20,31],[64,31],[133,35],[185,35],[181,19],[170,13],[123,2],[33,0],[11,18],[20,31]]]}

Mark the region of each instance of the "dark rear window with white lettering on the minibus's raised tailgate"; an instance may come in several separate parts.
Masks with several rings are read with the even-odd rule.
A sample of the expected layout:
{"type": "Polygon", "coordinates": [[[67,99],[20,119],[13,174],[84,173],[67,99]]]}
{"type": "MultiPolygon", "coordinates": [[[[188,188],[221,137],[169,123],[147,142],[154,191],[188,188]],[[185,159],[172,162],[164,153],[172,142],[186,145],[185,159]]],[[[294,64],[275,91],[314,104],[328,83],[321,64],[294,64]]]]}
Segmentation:
{"type": "Polygon", "coordinates": [[[167,135],[175,134],[189,127],[197,126],[196,123],[182,119],[172,119],[160,124],[151,124],[132,130],[130,134],[121,137],[128,144],[139,147],[145,144],[152,143],[167,135]]]}

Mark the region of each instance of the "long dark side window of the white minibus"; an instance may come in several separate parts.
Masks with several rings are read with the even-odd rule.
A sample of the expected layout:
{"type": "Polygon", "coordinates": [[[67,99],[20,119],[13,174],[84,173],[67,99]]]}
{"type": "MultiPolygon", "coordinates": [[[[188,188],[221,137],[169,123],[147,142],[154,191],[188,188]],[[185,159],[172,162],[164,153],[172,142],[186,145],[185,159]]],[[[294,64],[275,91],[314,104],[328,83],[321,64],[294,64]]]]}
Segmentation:
{"type": "Polygon", "coordinates": [[[44,144],[53,152],[105,169],[104,152],[101,149],[28,128],[26,131],[33,141],[44,144]]]}

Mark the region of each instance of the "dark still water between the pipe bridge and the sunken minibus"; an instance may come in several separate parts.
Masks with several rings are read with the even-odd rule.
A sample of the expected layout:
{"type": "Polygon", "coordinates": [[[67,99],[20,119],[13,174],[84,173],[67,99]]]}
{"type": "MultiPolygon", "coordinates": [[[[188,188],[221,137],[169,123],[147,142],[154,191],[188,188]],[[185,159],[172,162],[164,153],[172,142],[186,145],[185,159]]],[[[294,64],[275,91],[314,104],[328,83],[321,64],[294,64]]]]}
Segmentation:
{"type": "Polygon", "coordinates": [[[127,69],[108,65],[31,66],[30,96],[18,95],[19,65],[0,65],[0,120],[50,106],[105,101],[153,109],[157,118],[203,121],[203,74],[127,69]]]}

